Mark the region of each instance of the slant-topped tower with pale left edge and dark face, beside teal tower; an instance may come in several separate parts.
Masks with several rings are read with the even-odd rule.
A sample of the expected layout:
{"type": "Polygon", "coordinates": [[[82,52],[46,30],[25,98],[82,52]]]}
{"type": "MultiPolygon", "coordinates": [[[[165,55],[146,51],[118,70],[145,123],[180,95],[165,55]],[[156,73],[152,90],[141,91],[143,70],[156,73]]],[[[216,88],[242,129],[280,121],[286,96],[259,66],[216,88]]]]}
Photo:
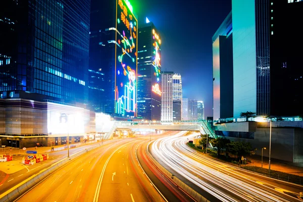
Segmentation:
{"type": "Polygon", "coordinates": [[[232,14],[213,36],[213,117],[233,117],[232,14]]]}

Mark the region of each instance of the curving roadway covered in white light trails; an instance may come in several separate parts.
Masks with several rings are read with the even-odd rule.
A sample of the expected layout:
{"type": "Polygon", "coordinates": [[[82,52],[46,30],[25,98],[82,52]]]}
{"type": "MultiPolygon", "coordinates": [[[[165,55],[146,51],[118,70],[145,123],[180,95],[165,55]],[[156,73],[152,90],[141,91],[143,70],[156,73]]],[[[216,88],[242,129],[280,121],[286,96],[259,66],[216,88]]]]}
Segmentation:
{"type": "Polygon", "coordinates": [[[201,155],[186,145],[190,136],[185,133],[157,139],[151,152],[211,201],[302,201],[298,198],[302,186],[270,180],[201,155]],[[278,183],[283,188],[273,185],[278,183]]]}

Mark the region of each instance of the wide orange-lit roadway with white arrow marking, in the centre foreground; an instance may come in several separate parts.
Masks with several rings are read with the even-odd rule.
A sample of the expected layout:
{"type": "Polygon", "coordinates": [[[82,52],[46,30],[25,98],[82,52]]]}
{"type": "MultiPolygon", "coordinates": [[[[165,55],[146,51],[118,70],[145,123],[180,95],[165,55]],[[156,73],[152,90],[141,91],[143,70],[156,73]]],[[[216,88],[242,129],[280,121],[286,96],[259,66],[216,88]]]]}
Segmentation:
{"type": "Polygon", "coordinates": [[[165,185],[155,180],[159,174],[155,170],[148,169],[150,178],[147,177],[138,160],[148,161],[141,153],[148,141],[149,137],[126,138],[93,149],[60,168],[16,200],[192,201],[186,194],[178,193],[180,190],[172,189],[169,183],[165,185]],[[158,186],[161,190],[157,190],[158,186]]]}

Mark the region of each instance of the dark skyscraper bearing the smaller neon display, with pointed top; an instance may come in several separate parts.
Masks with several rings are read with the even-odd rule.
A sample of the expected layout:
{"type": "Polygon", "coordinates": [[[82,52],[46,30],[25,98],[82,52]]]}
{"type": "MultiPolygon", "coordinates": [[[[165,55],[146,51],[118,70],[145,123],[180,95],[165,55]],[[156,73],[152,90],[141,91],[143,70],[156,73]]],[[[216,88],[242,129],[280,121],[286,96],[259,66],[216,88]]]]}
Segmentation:
{"type": "Polygon", "coordinates": [[[138,29],[138,118],[161,120],[161,37],[152,22],[138,29]]]}

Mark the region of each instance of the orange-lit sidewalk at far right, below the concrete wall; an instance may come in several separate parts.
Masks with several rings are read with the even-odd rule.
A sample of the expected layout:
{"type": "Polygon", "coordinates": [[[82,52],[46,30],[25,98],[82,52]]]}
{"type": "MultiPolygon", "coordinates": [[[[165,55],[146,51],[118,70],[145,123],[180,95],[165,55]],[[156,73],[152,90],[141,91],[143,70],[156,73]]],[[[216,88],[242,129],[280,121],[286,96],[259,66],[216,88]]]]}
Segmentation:
{"type": "MultiPolygon", "coordinates": [[[[252,160],[252,163],[255,164],[255,166],[261,167],[262,165],[261,156],[258,155],[249,156],[248,159],[252,160]]],[[[263,157],[263,168],[268,169],[268,163],[269,163],[269,158],[263,157]]],[[[303,176],[303,167],[288,165],[286,164],[285,161],[281,161],[277,159],[271,159],[270,169],[292,174],[292,175],[303,176]]]]}

